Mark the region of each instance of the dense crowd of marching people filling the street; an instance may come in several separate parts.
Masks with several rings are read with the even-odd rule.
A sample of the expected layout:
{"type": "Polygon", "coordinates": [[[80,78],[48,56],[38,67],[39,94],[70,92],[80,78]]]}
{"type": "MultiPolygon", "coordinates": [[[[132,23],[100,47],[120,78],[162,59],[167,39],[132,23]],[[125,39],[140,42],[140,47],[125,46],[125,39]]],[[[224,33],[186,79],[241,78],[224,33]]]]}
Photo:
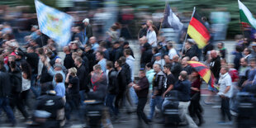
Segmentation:
{"type": "MultiPolygon", "coordinates": [[[[132,112],[136,107],[139,119],[150,125],[155,120],[156,107],[160,119],[164,119],[164,97],[172,91],[178,92],[181,123],[201,126],[204,122],[200,105],[203,80],[187,63],[190,60],[206,64],[215,77],[216,86],[209,85],[209,91],[212,96],[216,93],[220,96],[220,123],[225,123],[225,116],[231,121],[231,115],[237,114],[237,92],[255,92],[256,42],[238,43],[232,52],[234,62],[227,63],[224,43],[219,42],[217,48],[208,43],[200,50],[196,42],[187,40],[184,50],[178,51],[175,42],[159,37],[159,30],[148,20],[141,24],[138,32],[141,57],[137,78],[136,53],[129,42],[121,38],[120,23],[111,26],[106,40],[97,40],[86,18],[83,27],[72,27],[72,41],[62,51],[36,25],[31,27],[31,34],[25,36],[26,45],[22,46],[15,39],[12,26],[7,22],[2,26],[0,107],[6,111],[12,126],[17,124],[16,110],[21,111],[26,121],[35,116],[31,111],[48,111],[49,119],[64,126],[64,122],[76,118],[73,113],[79,114],[88,99],[104,102],[111,121],[123,114],[121,108],[132,112]],[[64,58],[59,52],[64,52],[64,58]],[[31,105],[33,98],[36,104],[31,105]],[[148,116],[144,112],[147,102],[148,116]],[[193,120],[196,116],[198,123],[193,120]]],[[[206,104],[211,104],[212,100],[209,97],[206,104]]]]}

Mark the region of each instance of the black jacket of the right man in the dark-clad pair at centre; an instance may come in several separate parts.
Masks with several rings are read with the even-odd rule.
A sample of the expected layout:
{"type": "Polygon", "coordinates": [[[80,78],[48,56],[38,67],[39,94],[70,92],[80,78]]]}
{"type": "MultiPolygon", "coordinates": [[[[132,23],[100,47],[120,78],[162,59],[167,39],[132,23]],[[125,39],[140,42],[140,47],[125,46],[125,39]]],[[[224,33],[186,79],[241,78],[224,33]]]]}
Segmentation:
{"type": "Polygon", "coordinates": [[[117,84],[118,84],[119,93],[126,91],[127,82],[126,82],[126,73],[124,69],[121,69],[121,71],[117,73],[117,84]]]}

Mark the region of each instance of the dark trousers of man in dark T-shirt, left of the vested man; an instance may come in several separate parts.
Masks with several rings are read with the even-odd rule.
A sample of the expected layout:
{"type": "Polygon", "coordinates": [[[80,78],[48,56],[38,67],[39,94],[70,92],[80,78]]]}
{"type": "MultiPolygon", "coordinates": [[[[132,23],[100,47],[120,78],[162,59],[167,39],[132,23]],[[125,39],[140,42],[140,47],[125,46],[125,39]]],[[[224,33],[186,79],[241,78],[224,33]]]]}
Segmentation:
{"type": "Polygon", "coordinates": [[[144,112],[144,107],[147,103],[147,97],[139,97],[139,102],[138,102],[138,106],[137,106],[137,116],[139,118],[139,120],[143,120],[145,121],[146,124],[149,123],[148,118],[145,115],[144,112]]]}

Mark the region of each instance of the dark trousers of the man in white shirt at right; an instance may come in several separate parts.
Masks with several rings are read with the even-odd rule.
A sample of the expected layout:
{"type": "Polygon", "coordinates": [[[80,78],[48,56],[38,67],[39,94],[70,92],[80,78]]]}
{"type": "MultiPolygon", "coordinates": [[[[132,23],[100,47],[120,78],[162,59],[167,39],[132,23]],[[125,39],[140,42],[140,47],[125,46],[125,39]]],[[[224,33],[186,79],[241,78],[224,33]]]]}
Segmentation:
{"type": "Polygon", "coordinates": [[[221,120],[225,121],[225,116],[231,121],[230,115],[230,98],[229,97],[222,97],[221,98],[221,120]]]}

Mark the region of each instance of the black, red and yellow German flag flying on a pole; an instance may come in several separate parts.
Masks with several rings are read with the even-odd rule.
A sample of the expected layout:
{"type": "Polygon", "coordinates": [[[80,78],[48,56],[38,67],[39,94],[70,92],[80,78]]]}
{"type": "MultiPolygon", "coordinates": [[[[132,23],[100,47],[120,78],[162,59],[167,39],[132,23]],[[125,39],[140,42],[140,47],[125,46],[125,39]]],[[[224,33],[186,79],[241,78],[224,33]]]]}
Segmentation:
{"type": "Polygon", "coordinates": [[[201,21],[201,17],[197,14],[197,12],[194,13],[194,16],[188,25],[187,34],[196,41],[199,49],[205,47],[211,37],[204,22],[201,21]]]}

